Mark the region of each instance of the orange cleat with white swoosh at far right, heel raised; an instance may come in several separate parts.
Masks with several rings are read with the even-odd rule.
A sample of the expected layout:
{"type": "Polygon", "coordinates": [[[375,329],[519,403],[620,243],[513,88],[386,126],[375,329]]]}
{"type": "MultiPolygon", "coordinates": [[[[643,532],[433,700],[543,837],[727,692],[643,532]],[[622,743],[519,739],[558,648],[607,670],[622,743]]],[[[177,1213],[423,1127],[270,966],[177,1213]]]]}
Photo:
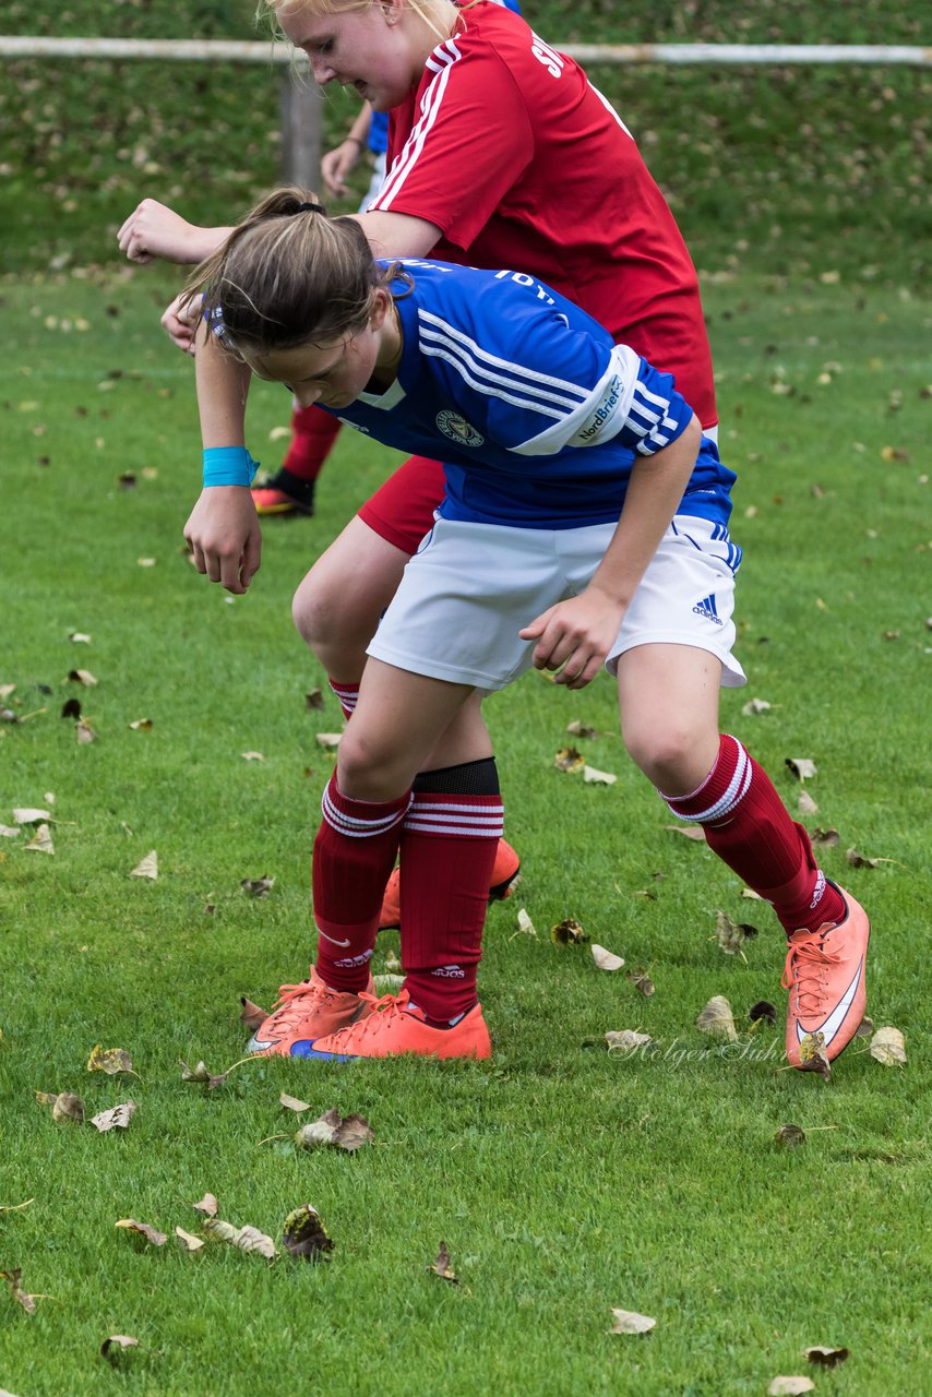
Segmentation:
{"type": "Polygon", "coordinates": [[[787,937],[782,985],[789,990],[787,1059],[794,1067],[801,1066],[799,1045],[806,1034],[822,1034],[831,1062],[864,1018],[871,923],[851,894],[838,891],[848,909],[841,922],[826,922],[816,932],[803,928],[787,937]]]}

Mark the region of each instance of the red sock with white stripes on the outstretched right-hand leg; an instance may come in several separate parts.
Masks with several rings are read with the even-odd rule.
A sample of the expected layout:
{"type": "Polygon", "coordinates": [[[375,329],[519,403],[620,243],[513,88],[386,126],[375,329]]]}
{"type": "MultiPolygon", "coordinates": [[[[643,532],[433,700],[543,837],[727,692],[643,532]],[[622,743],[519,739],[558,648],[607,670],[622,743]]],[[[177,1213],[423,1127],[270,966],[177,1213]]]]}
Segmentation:
{"type": "Polygon", "coordinates": [[[841,894],[816,863],[809,835],[795,824],[774,785],[741,742],[722,733],[718,760],[692,795],[667,805],[706,831],[706,842],[748,887],[773,902],[787,932],[845,915],[841,894]]]}

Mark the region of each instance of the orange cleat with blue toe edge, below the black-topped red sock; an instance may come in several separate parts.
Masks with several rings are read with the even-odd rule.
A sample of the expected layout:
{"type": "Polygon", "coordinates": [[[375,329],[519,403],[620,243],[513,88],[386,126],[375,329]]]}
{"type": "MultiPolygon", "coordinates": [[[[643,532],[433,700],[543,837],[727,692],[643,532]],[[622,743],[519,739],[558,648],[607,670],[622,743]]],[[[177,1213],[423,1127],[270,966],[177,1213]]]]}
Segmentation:
{"type": "MultiPolygon", "coordinates": [[[[370,999],[369,995],[363,996],[370,999]]],[[[482,1004],[463,1014],[449,1028],[435,1028],[411,1003],[408,990],[370,999],[370,1013],[349,1028],[341,1028],[314,1044],[300,1044],[298,1058],[323,1062],[354,1062],[356,1058],[394,1058],[415,1053],[419,1058],[490,1058],[489,1030],[482,1004]]]]}

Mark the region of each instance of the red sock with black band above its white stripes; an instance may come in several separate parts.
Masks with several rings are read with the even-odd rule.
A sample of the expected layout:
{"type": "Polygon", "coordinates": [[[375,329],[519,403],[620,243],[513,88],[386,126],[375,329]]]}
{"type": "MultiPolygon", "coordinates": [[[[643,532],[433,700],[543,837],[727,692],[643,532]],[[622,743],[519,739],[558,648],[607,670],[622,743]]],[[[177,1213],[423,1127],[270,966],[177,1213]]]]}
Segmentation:
{"type": "Polygon", "coordinates": [[[497,784],[493,759],[423,773],[405,816],[401,964],[412,1002],[437,1023],[457,1018],[476,1002],[482,928],[503,823],[497,784]]]}

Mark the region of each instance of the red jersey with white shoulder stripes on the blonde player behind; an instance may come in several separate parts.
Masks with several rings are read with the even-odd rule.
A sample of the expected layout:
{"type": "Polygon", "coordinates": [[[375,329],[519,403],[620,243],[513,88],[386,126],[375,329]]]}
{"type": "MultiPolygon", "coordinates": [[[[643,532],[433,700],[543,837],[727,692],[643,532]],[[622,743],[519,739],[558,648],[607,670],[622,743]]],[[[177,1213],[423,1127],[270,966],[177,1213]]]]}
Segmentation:
{"type": "Polygon", "coordinates": [[[481,0],[391,112],[372,210],[440,228],[444,261],[549,282],[717,420],[696,268],[611,103],[518,15],[481,0]]]}

